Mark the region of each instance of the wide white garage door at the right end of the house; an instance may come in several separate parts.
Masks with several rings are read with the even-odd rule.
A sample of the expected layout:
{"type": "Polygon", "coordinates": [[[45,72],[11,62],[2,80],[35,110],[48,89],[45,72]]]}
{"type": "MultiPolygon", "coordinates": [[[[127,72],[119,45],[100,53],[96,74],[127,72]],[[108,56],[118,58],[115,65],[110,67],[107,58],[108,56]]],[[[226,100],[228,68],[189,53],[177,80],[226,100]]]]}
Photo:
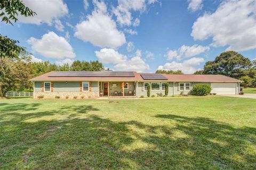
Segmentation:
{"type": "Polygon", "coordinates": [[[236,94],[236,83],[211,83],[211,93],[236,94]]]}

